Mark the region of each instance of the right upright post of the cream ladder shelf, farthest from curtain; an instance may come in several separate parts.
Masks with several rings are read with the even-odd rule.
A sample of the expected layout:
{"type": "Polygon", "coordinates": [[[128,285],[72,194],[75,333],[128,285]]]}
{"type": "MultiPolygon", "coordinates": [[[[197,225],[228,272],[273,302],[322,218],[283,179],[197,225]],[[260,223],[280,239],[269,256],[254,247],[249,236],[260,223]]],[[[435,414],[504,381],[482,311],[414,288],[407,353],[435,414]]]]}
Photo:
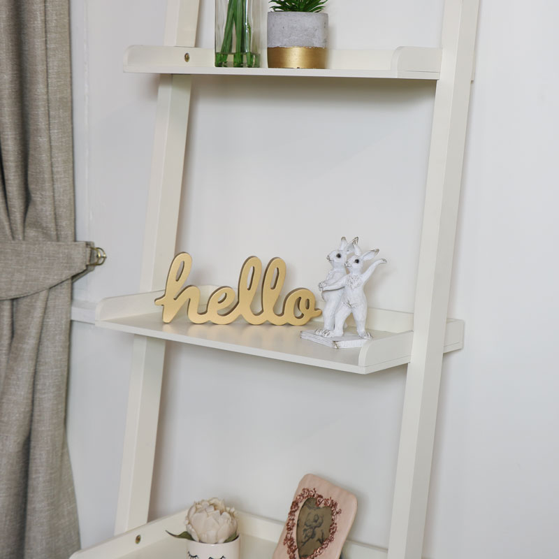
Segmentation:
{"type": "Polygon", "coordinates": [[[445,0],[389,559],[423,549],[479,0],[445,0]]]}

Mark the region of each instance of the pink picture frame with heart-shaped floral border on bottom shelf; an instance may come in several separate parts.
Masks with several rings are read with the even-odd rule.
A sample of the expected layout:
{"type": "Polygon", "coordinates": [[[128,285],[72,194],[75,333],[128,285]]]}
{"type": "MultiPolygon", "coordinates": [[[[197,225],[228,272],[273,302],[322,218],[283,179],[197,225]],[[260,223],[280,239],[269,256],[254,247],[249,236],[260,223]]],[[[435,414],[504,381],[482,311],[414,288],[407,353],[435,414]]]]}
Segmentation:
{"type": "Polygon", "coordinates": [[[313,474],[297,487],[273,559],[340,559],[357,512],[349,491],[313,474]]]}

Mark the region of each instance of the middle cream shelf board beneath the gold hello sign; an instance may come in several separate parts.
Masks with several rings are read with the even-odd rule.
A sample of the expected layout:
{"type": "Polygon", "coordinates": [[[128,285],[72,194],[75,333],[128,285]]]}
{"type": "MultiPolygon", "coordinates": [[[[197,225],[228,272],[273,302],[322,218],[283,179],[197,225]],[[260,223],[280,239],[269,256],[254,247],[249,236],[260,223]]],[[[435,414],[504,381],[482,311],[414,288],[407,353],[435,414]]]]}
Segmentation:
{"type": "MultiPolygon", "coordinates": [[[[206,291],[210,291],[208,286],[206,291]]],[[[300,331],[319,328],[305,326],[253,326],[242,319],[228,325],[193,324],[177,316],[169,324],[161,319],[161,307],[154,300],[163,291],[103,299],[96,310],[96,325],[161,340],[235,351],[279,361],[368,375],[409,363],[412,354],[413,316],[398,311],[369,309],[368,330],[372,340],[361,348],[334,349],[300,339],[300,331]]],[[[463,346],[464,323],[449,319],[444,352],[463,346]]]]}

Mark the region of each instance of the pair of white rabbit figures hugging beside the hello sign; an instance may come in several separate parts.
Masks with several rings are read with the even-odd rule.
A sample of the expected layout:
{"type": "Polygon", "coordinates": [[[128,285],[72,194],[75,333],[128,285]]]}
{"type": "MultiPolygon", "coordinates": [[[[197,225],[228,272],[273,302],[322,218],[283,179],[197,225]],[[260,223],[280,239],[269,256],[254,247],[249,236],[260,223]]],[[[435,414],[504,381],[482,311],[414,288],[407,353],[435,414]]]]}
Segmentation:
{"type": "Polygon", "coordinates": [[[354,315],[359,337],[368,340],[371,335],[365,331],[367,319],[367,298],[363,287],[379,264],[386,263],[384,258],[373,262],[364,272],[363,265],[377,256],[379,249],[361,252],[357,245],[358,238],[347,242],[342,237],[340,248],[333,250],[326,259],[332,269],[324,282],[319,283],[322,298],[326,301],[322,315],[324,328],[315,334],[324,337],[338,337],[344,334],[344,324],[350,314],[354,315]],[[349,256],[353,254],[353,256],[349,256]],[[349,258],[348,258],[349,256],[349,258]]]}

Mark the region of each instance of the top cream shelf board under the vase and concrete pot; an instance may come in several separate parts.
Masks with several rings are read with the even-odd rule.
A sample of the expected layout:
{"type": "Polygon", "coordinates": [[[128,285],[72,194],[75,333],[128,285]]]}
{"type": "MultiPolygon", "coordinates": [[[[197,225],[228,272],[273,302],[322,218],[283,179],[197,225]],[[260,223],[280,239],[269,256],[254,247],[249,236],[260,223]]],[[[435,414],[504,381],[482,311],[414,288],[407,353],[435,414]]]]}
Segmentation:
{"type": "Polygon", "coordinates": [[[261,68],[216,68],[214,50],[133,45],[124,53],[124,71],[159,74],[289,75],[327,78],[401,78],[438,80],[440,48],[398,47],[392,50],[328,50],[321,69],[268,68],[266,50],[261,68]]]}

